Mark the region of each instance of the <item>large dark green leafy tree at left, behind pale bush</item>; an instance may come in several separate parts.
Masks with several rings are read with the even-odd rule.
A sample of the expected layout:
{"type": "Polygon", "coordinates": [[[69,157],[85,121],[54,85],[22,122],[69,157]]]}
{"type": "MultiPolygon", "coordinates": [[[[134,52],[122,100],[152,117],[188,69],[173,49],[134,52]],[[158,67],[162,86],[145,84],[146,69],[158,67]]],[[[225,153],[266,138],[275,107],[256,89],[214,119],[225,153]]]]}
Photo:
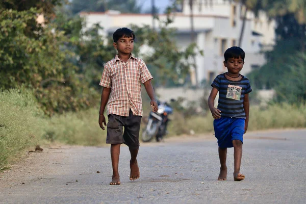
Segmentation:
{"type": "Polygon", "coordinates": [[[75,54],[65,49],[68,39],[52,24],[29,27],[37,13],[33,8],[1,13],[0,87],[31,87],[47,114],[88,107],[93,96],[70,61],[75,54]]]}

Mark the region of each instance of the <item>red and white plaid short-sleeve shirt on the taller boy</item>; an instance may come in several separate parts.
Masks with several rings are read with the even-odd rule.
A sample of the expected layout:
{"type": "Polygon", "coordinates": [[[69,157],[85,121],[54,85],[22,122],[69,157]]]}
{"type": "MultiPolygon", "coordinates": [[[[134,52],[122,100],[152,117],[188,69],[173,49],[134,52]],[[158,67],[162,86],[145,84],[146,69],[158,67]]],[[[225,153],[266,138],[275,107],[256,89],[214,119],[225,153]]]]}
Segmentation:
{"type": "Polygon", "coordinates": [[[100,86],[111,88],[107,105],[107,115],[115,114],[142,116],[141,84],[153,79],[144,61],[130,57],[123,62],[116,57],[107,62],[99,83],[100,86]]]}

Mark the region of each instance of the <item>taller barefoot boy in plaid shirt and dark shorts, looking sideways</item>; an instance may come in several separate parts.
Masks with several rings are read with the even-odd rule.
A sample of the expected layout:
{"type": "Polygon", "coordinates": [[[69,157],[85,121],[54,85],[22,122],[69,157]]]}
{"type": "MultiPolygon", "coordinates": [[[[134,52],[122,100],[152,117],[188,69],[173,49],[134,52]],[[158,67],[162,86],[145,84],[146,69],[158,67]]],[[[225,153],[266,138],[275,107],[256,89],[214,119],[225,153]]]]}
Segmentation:
{"type": "Polygon", "coordinates": [[[104,110],[107,106],[107,139],[111,144],[111,159],[113,176],[110,185],[119,185],[118,163],[120,145],[126,144],[131,152],[130,180],[139,178],[137,164],[139,149],[139,131],[142,117],[141,84],[144,85],[151,99],[152,111],[156,112],[158,105],[151,84],[152,75],[143,60],[132,56],[135,34],[127,28],[118,29],[113,34],[114,47],[118,55],[105,64],[100,86],[103,86],[99,111],[99,125],[105,130],[106,120],[104,110]],[[123,132],[124,127],[124,132],[123,132]]]}

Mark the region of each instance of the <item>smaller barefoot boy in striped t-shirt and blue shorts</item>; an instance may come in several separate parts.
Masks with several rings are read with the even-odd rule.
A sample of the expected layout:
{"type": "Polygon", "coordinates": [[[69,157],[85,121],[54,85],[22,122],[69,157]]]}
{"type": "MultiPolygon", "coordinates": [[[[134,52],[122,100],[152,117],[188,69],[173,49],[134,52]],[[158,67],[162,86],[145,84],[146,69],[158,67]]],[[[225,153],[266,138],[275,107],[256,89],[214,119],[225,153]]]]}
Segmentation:
{"type": "Polygon", "coordinates": [[[243,134],[249,120],[248,94],[252,91],[249,80],[239,72],[243,68],[245,53],[240,47],[228,48],[224,53],[224,66],[227,72],[219,74],[212,83],[208,105],[214,120],[215,137],[219,145],[221,163],[219,181],[227,176],[227,148],[234,147],[234,180],[244,180],[240,173],[243,134]],[[218,108],[215,98],[219,92],[218,108]]]}

